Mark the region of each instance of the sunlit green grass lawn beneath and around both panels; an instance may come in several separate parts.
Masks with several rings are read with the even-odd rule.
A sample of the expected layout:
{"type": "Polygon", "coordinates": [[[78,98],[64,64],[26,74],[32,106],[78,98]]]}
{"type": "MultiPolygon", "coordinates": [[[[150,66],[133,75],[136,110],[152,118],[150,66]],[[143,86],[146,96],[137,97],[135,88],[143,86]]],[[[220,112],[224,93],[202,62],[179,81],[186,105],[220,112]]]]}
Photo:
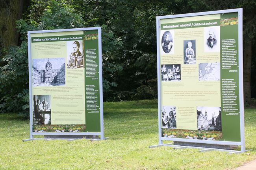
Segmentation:
{"type": "Polygon", "coordinates": [[[105,102],[107,140],[34,140],[29,121],[0,114],[0,169],[32,170],[230,170],[256,159],[256,109],[245,110],[242,154],[148,148],[158,144],[157,101],[105,102]]]}

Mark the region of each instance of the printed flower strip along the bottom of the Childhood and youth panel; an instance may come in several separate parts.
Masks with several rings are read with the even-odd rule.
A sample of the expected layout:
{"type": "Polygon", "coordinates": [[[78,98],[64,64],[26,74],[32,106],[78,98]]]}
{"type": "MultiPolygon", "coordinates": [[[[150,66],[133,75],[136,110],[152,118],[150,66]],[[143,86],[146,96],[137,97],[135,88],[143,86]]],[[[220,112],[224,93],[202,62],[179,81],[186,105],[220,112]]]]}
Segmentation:
{"type": "Polygon", "coordinates": [[[162,137],[200,139],[200,140],[221,140],[221,131],[209,130],[182,130],[182,129],[163,129],[162,137]]]}

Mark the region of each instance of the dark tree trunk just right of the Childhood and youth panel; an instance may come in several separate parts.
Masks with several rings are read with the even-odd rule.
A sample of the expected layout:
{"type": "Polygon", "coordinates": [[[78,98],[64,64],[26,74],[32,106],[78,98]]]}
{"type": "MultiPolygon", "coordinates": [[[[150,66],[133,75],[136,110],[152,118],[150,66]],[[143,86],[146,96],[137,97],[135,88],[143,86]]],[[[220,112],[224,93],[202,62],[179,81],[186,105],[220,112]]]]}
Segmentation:
{"type": "Polygon", "coordinates": [[[244,103],[251,103],[251,94],[250,94],[250,68],[252,64],[252,41],[249,40],[246,42],[244,47],[243,55],[243,94],[244,94],[244,103]]]}

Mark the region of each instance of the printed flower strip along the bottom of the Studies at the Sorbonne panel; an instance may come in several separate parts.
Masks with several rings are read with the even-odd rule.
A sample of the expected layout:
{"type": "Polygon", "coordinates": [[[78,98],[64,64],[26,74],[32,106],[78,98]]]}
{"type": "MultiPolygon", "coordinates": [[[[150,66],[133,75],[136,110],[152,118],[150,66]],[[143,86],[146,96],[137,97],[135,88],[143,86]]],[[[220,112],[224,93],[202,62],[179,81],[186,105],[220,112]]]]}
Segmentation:
{"type": "Polygon", "coordinates": [[[76,125],[33,125],[33,132],[85,132],[85,124],[76,125]]]}

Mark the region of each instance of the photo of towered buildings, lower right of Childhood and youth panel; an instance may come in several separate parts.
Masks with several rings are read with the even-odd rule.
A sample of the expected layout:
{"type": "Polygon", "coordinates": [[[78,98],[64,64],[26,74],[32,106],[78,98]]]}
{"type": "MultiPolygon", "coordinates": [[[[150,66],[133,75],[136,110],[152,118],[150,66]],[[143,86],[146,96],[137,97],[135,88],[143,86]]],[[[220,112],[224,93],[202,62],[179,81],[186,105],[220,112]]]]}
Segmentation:
{"type": "Polygon", "coordinates": [[[221,131],[221,107],[197,106],[197,129],[221,131]]]}

